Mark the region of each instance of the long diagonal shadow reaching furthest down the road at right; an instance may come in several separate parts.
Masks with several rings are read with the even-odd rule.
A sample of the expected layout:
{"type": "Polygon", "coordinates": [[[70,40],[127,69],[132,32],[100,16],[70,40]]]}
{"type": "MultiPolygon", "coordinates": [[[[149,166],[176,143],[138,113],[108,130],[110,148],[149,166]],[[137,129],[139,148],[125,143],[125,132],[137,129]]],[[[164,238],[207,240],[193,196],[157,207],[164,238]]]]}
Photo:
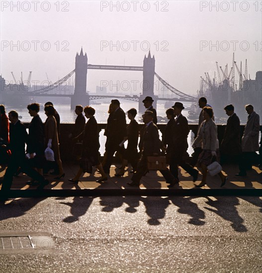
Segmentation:
{"type": "Polygon", "coordinates": [[[205,206],[204,208],[216,213],[223,219],[230,221],[232,228],[237,232],[247,232],[247,227],[243,224],[244,219],[239,215],[236,205],[239,205],[237,197],[216,197],[217,200],[213,201],[209,197],[206,197],[207,205],[213,208],[205,206]]]}

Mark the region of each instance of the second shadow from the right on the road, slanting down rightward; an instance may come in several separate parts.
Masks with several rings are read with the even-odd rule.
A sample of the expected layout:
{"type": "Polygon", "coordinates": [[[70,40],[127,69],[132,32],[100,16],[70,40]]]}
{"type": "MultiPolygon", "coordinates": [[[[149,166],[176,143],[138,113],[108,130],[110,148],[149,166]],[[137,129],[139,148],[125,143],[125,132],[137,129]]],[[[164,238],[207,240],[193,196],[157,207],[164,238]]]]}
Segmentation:
{"type": "Polygon", "coordinates": [[[198,207],[197,204],[191,202],[188,197],[180,197],[174,196],[169,198],[170,201],[178,206],[178,212],[181,214],[187,214],[191,218],[188,220],[189,224],[192,225],[204,225],[205,221],[201,219],[205,219],[205,212],[198,207]]]}

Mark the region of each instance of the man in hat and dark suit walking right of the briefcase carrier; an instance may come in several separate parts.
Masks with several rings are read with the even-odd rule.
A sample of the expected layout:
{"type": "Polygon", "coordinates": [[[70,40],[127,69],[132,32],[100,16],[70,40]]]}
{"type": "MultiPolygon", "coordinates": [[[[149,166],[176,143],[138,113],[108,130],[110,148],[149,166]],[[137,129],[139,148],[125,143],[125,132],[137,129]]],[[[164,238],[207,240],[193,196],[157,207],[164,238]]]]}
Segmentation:
{"type": "Polygon", "coordinates": [[[187,135],[189,133],[187,119],[181,114],[184,107],[181,102],[175,102],[175,105],[172,106],[172,108],[174,108],[176,118],[172,130],[173,145],[171,151],[170,171],[173,176],[178,179],[177,167],[179,165],[191,176],[193,176],[193,181],[195,182],[197,180],[198,171],[186,163],[183,159],[183,156],[188,148],[187,135]]]}

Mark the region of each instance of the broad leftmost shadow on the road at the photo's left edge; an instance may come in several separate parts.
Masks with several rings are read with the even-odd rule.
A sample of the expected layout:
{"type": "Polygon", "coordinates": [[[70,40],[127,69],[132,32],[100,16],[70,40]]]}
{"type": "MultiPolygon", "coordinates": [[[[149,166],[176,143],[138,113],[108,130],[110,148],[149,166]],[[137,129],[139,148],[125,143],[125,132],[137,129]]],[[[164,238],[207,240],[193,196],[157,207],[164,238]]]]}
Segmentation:
{"type": "Polygon", "coordinates": [[[45,197],[42,198],[22,198],[22,199],[13,199],[11,201],[0,202],[0,221],[20,217],[26,214],[27,211],[32,208],[37,209],[37,204],[45,200],[45,197]],[[5,204],[6,203],[6,204],[5,204]]]}

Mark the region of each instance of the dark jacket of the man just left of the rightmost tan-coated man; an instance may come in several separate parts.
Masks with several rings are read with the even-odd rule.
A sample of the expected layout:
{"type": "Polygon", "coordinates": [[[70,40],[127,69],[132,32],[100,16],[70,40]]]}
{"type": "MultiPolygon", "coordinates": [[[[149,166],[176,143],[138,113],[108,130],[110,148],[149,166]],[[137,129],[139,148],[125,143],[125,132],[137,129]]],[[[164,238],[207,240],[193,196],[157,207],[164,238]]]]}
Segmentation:
{"type": "Polygon", "coordinates": [[[222,153],[229,155],[237,155],[241,153],[240,120],[236,113],[227,120],[227,126],[220,149],[222,153]]]}

